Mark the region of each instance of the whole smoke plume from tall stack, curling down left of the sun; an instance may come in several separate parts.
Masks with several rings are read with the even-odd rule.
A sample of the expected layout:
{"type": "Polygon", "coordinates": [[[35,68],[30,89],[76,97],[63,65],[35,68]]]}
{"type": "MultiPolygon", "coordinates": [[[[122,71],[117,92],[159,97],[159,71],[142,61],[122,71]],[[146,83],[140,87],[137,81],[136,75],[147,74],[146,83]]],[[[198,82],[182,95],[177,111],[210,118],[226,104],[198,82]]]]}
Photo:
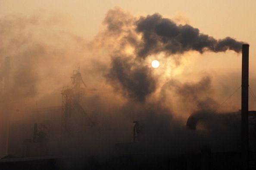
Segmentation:
{"type": "Polygon", "coordinates": [[[150,69],[144,65],[148,56],[165,53],[165,56],[173,57],[188,51],[217,53],[234,50],[240,53],[244,43],[231,37],[216,40],[200,33],[198,28],[177,25],[157,13],[136,18],[116,8],[109,10],[103,23],[106,29],[100,34],[100,43],[112,48],[112,62],[106,78],[113,87],[122,89],[122,94],[140,102],[157,89],[155,77],[151,77],[150,69]]]}

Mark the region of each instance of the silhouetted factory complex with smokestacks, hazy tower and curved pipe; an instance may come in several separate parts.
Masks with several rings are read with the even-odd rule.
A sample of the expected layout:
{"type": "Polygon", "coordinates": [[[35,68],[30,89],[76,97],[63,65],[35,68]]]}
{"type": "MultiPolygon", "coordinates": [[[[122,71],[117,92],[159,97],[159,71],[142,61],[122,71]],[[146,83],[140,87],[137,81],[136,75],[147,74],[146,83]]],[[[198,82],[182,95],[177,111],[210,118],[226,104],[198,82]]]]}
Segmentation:
{"type": "MultiPolygon", "coordinates": [[[[5,89],[8,89],[9,80],[9,58],[6,58],[5,89]]],[[[115,155],[107,159],[99,159],[100,155],[72,156],[60,151],[51,152],[49,146],[50,124],[34,123],[31,125],[33,138],[23,139],[22,144],[12,140],[12,132],[19,127],[9,127],[9,122],[1,128],[1,152],[5,155],[0,159],[1,170],[62,170],[62,169],[90,169],[90,170],[249,170],[256,168],[256,111],[248,111],[248,87],[249,87],[249,45],[242,46],[242,98],[241,110],[237,112],[222,114],[196,113],[190,115],[187,120],[187,129],[197,131],[199,122],[215,122],[215,124],[227,124],[230,117],[241,120],[241,142],[240,148],[234,151],[214,151],[210,145],[204,145],[200,150],[189,151],[185,154],[173,155],[151,152],[151,149],[141,147],[150,142],[150,133],[147,133],[150,124],[145,121],[134,121],[133,142],[114,144],[115,155]],[[217,122],[216,122],[217,121],[217,122]],[[250,127],[250,128],[249,128],[250,127]],[[15,149],[14,149],[15,148],[15,149]],[[240,150],[239,150],[240,149],[240,150]],[[15,152],[19,152],[15,155],[15,152]]],[[[81,128],[77,124],[79,117],[86,117],[85,126],[94,126],[94,121],[81,107],[80,100],[86,87],[79,71],[73,72],[71,77],[72,86],[62,89],[62,107],[49,108],[58,112],[61,117],[59,124],[59,138],[66,140],[69,134],[81,128]]],[[[8,90],[6,90],[8,91],[8,90]]],[[[8,99],[6,99],[8,101],[8,99]]],[[[51,111],[51,112],[52,112],[51,111]]],[[[47,114],[47,109],[37,109],[38,114],[47,114]]],[[[8,120],[8,103],[6,112],[3,113],[8,120]]],[[[53,120],[56,120],[55,117],[53,120]]],[[[83,120],[82,120],[83,121],[83,120]]],[[[25,127],[28,129],[30,127],[25,127]]],[[[165,136],[163,136],[164,138],[165,136]]],[[[151,145],[149,145],[151,146],[151,145]]],[[[61,146],[60,146],[61,147],[61,146]]]]}

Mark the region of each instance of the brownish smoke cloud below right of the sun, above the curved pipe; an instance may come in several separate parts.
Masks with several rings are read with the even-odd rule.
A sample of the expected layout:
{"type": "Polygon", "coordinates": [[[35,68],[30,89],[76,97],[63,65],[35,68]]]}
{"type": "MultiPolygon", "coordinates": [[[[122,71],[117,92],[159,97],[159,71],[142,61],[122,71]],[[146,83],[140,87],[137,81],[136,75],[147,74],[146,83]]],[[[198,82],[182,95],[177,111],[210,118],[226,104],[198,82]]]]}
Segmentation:
{"type": "Polygon", "coordinates": [[[175,113],[183,113],[187,117],[190,114],[200,112],[214,112],[219,103],[214,98],[212,79],[209,76],[202,77],[196,82],[181,83],[171,79],[161,87],[161,101],[172,101],[172,110],[175,113]]]}

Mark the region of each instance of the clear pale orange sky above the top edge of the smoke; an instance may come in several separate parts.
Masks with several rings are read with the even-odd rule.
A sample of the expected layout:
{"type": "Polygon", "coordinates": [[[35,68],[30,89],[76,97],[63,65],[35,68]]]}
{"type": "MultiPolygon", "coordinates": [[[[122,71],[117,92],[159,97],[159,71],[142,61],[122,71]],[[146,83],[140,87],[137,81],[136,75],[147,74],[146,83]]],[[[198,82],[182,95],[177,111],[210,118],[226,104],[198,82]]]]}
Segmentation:
{"type": "Polygon", "coordinates": [[[78,21],[72,25],[78,34],[93,37],[106,12],[115,6],[133,15],[182,15],[191,25],[216,38],[231,36],[254,44],[255,0],[0,0],[0,15],[31,15],[41,10],[60,13],[78,21]]]}

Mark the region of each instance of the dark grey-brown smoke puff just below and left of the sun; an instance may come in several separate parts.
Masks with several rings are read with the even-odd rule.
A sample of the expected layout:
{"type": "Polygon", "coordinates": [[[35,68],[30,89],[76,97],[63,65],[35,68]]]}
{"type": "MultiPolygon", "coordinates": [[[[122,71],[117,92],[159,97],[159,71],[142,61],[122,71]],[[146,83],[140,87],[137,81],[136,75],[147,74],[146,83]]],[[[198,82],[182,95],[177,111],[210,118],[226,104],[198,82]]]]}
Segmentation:
{"type": "Polygon", "coordinates": [[[156,90],[156,80],[148,67],[137,65],[128,57],[113,57],[111,65],[106,77],[114,87],[121,87],[125,96],[144,102],[156,90]]]}

